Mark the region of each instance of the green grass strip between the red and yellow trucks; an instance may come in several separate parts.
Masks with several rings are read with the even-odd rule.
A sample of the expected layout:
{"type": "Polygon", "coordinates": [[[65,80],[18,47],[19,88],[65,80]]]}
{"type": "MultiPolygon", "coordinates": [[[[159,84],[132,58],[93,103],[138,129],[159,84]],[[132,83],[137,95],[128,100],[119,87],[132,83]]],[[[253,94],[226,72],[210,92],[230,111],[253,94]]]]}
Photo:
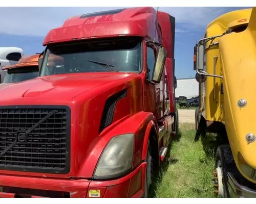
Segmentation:
{"type": "Polygon", "coordinates": [[[215,136],[194,142],[195,134],[194,124],[180,124],[167,155],[170,162],[165,161],[155,175],[152,197],[215,197],[211,175],[215,136]]]}

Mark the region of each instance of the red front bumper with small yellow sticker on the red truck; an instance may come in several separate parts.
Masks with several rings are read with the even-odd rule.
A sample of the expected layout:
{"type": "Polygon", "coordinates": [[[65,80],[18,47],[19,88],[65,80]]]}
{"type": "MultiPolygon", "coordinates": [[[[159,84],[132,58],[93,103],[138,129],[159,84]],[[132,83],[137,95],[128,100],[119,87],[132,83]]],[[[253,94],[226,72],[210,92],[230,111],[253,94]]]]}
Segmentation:
{"type": "Polygon", "coordinates": [[[61,180],[0,175],[2,197],[142,197],[146,163],[117,180],[61,180]]]}

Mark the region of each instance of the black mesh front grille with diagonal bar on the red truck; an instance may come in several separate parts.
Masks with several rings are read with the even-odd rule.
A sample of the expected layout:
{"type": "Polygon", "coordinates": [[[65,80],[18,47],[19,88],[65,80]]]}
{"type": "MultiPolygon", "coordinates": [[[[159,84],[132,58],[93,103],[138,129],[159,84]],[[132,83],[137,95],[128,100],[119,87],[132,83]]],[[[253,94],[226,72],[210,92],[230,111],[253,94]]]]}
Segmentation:
{"type": "Polygon", "coordinates": [[[0,169],[68,173],[70,114],[67,106],[0,107],[0,169]]]}

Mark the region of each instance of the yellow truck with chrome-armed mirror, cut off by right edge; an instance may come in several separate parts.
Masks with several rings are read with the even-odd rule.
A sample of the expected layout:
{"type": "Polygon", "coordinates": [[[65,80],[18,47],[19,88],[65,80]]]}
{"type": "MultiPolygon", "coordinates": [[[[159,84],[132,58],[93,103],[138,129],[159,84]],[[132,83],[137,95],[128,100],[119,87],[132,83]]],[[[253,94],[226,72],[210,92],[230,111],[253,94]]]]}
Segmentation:
{"type": "Polygon", "coordinates": [[[256,7],[210,22],[194,47],[195,141],[216,133],[218,197],[256,197],[256,7]]]}

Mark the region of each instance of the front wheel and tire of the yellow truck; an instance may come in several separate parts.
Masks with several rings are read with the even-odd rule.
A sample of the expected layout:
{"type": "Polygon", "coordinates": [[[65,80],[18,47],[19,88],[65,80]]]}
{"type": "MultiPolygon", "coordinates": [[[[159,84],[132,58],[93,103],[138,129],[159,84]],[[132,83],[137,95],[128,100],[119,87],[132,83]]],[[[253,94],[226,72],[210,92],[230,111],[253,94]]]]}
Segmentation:
{"type": "Polygon", "coordinates": [[[228,183],[227,183],[227,169],[230,164],[234,162],[232,152],[229,145],[220,145],[216,151],[216,160],[215,160],[215,168],[217,173],[221,173],[220,176],[217,174],[218,177],[218,184],[221,188],[219,191],[219,196],[228,198],[228,183]],[[221,180],[221,181],[220,181],[221,180]]]}

